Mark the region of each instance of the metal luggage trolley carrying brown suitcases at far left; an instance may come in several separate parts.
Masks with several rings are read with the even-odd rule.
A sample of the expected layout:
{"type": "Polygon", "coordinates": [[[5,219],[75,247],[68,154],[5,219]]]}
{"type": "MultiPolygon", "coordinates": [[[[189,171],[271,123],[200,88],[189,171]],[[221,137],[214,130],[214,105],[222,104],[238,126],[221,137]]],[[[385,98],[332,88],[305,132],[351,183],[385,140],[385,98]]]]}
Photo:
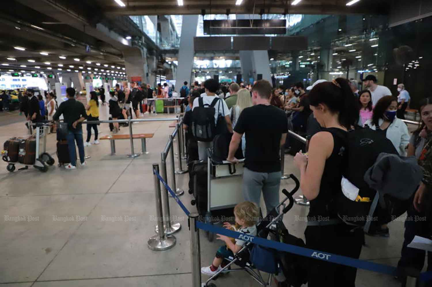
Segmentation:
{"type": "MultiPolygon", "coordinates": [[[[53,157],[46,152],[47,147],[47,134],[48,128],[52,125],[51,123],[34,123],[29,122],[29,126],[33,126],[36,128],[36,152],[35,152],[35,164],[34,168],[37,168],[41,172],[48,171],[48,165],[53,165],[55,160],[53,157]]],[[[10,162],[7,156],[3,156],[3,160],[8,162],[6,166],[6,170],[8,172],[13,172],[15,170],[15,165],[24,165],[24,167],[19,168],[18,170],[28,169],[29,165],[25,165],[19,162],[10,162]]]]}

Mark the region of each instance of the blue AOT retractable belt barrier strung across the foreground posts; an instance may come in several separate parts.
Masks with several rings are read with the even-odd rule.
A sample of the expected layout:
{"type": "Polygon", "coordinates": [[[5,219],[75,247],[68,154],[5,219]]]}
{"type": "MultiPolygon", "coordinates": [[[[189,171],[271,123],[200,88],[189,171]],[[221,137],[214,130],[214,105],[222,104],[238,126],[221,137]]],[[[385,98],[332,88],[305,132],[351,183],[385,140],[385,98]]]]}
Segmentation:
{"type": "MultiPolygon", "coordinates": [[[[163,180],[163,178],[159,175],[159,173],[153,170],[153,174],[155,174],[159,178],[159,180],[162,182],[165,188],[171,193],[172,197],[175,199],[175,201],[178,203],[181,209],[183,209],[184,213],[186,213],[186,215],[189,216],[190,213],[189,210],[187,210],[187,208],[183,205],[181,200],[175,195],[175,193],[168,186],[168,184],[163,180]]],[[[366,260],[354,259],[342,255],[322,252],[319,250],[313,250],[313,249],[295,246],[291,244],[280,243],[273,240],[267,240],[261,237],[251,236],[241,232],[232,231],[226,228],[215,227],[213,225],[206,224],[201,221],[196,221],[196,227],[202,230],[213,232],[215,234],[226,235],[228,237],[232,237],[235,239],[252,242],[261,246],[270,247],[276,250],[285,251],[300,256],[305,256],[313,259],[319,259],[319,260],[332,262],[336,264],[351,266],[354,268],[365,269],[365,270],[374,271],[382,274],[397,275],[396,273],[397,268],[393,266],[383,265],[375,262],[369,262],[366,260]]],[[[420,281],[429,281],[431,279],[432,279],[432,271],[420,273],[419,276],[420,281]]]]}

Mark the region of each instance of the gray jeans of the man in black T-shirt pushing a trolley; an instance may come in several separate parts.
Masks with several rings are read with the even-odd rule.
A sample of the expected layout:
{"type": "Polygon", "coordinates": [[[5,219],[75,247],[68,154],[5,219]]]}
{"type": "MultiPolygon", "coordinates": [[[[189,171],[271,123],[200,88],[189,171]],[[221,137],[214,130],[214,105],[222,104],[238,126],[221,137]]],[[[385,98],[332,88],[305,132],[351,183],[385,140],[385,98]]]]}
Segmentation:
{"type": "Polygon", "coordinates": [[[243,169],[243,196],[260,206],[261,191],[264,196],[267,213],[279,204],[281,172],[253,172],[243,169]]]}

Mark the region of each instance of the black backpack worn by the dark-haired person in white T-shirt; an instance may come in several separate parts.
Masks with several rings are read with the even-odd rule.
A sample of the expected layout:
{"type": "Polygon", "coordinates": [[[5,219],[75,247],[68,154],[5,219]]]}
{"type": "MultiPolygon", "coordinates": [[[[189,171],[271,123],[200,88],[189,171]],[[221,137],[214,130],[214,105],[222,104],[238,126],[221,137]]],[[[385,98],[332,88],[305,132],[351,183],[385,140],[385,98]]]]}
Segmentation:
{"type": "Polygon", "coordinates": [[[215,105],[220,100],[215,97],[210,104],[203,103],[203,98],[198,98],[199,106],[192,111],[192,134],[199,141],[212,141],[216,135],[215,105]]]}

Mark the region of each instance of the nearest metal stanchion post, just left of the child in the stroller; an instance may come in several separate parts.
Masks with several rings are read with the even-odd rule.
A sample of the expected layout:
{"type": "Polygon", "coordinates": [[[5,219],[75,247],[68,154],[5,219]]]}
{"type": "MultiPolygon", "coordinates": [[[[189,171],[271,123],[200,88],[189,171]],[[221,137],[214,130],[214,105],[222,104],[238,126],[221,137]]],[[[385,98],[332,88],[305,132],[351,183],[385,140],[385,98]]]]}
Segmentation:
{"type": "Polygon", "coordinates": [[[191,231],[191,263],[192,263],[192,287],[201,287],[201,249],[200,231],[196,227],[198,213],[189,214],[189,230],[191,231]]]}

